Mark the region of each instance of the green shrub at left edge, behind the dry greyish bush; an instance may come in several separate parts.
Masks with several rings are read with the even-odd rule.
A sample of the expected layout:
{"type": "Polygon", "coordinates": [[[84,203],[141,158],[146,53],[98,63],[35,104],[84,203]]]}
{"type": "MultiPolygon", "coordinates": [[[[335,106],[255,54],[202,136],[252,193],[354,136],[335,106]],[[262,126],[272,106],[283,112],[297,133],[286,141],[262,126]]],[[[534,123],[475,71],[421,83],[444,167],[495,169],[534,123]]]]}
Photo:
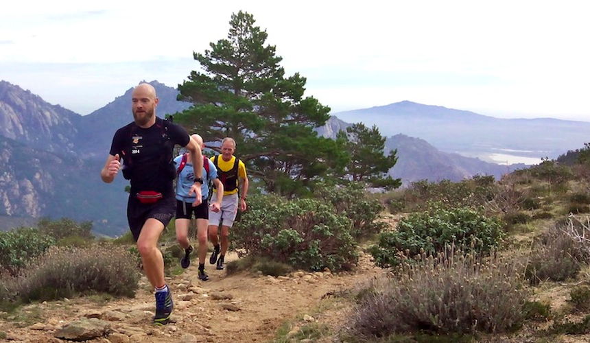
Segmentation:
{"type": "Polygon", "coordinates": [[[40,233],[36,228],[0,232],[0,268],[16,276],[30,259],[43,254],[54,244],[54,238],[40,233]]]}

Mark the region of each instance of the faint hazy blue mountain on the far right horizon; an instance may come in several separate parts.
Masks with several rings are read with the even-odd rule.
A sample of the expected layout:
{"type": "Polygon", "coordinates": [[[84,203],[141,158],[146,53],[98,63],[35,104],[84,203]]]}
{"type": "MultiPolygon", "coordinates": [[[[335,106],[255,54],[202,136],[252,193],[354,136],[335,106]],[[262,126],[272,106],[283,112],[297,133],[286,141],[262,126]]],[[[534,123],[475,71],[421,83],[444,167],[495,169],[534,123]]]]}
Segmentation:
{"type": "Polygon", "coordinates": [[[590,122],[586,121],[498,119],[408,101],[334,115],[349,123],[377,125],[386,137],[400,133],[419,137],[443,152],[488,162],[493,162],[494,154],[557,158],[590,141],[590,122]]]}

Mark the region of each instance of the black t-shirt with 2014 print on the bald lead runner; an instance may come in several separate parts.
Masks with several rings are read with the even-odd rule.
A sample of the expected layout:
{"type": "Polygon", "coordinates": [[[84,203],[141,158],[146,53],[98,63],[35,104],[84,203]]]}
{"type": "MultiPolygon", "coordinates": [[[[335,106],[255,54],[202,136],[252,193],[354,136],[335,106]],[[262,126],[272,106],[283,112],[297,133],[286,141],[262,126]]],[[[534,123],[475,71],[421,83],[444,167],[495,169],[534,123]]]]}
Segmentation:
{"type": "Polygon", "coordinates": [[[165,196],[174,192],[174,145],[182,147],[189,143],[185,128],[156,117],[156,123],[144,129],[135,122],[119,128],[113,137],[110,154],[119,154],[123,159],[122,169],[128,169],[131,194],[139,191],[158,191],[165,196]]]}

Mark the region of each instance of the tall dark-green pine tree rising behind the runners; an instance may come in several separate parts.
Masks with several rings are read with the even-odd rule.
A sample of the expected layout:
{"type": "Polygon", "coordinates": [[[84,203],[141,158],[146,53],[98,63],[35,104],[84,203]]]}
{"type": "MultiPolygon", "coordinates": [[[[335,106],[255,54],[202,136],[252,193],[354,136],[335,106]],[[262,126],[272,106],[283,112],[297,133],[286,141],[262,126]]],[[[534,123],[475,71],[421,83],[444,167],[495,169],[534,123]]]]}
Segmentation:
{"type": "Polygon", "coordinates": [[[265,45],[266,30],[247,12],[231,16],[228,38],[211,43],[194,58],[204,72],[192,71],[178,85],[178,99],[193,106],[174,116],[208,147],[224,137],[237,143],[237,156],[266,191],[293,195],[342,164],[335,141],[314,128],[329,119],[330,108],[304,97],[307,80],[285,76],[276,48],[265,45]]]}

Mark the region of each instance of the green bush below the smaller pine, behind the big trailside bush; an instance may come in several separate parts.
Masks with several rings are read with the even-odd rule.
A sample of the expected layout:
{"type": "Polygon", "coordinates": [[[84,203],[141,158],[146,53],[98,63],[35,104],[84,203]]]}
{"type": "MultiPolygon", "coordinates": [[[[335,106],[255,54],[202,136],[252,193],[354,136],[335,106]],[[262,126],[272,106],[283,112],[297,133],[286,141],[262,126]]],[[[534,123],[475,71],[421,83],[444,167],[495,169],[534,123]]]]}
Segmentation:
{"type": "Polygon", "coordinates": [[[334,206],[336,214],[348,217],[352,222],[351,235],[355,239],[381,232],[385,224],[379,222],[384,206],[367,196],[361,182],[350,182],[344,187],[316,187],[316,197],[334,206]]]}

